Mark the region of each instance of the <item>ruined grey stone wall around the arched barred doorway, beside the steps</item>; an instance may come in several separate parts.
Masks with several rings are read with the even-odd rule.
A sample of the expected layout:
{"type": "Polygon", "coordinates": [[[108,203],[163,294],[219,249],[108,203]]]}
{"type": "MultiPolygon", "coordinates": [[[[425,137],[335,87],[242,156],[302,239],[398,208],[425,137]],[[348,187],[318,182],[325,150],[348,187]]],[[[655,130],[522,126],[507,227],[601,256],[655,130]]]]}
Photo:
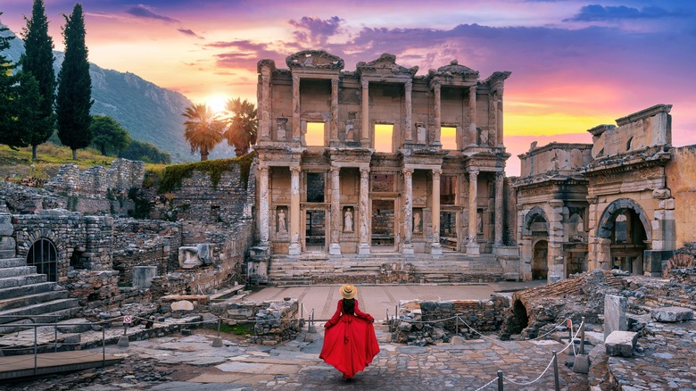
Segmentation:
{"type": "Polygon", "coordinates": [[[13,215],[12,224],[18,256],[26,257],[31,245],[41,237],[54,243],[58,253],[58,282],[65,281],[71,269],[112,269],[111,217],[85,216],[78,212],[54,209],[40,211],[38,214],[13,215]]]}

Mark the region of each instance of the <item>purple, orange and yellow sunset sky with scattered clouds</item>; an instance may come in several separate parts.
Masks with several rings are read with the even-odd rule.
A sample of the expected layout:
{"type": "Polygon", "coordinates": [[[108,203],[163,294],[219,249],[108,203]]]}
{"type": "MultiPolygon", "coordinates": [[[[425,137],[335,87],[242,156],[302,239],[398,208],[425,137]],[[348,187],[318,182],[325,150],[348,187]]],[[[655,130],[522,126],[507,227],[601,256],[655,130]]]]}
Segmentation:
{"type": "MultiPolygon", "coordinates": [[[[0,21],[19,33],[31,0],[3,0],[0,21]]],[[[61,13],[46,0],[62,50],[61,13]]],[[[508,175],[529,144],[591,142],[586,132],[653,104],[674,104],[673,144],[696,144],[696,1],[86,0],[89,61],[129,71],[214,104],[256,101],[256,62],[324,49],[344,71],[382,53],[418,75],[457,59],[505,87],[508,175]],[[138,1],[140,3],[138,3],[138,1]]]]}

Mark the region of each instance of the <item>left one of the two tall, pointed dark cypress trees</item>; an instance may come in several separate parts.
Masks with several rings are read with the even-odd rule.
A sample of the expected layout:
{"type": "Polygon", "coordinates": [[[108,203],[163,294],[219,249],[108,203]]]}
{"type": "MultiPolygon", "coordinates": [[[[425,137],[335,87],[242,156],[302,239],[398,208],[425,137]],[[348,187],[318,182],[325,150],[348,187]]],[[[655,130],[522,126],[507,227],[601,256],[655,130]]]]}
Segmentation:
{"type": "Polygon", "coordinates": [[[43,0],[34,0],[31,19],[24,17],[27,27],[22,30],[24,54],[21,56],[21,70],[32,75],[38,83],[41,104],[34,106],[37,110],[36,126],[30,127],[29,144],[32,159],[37,159],[37,146],[44,144],[54,133],[55,115],[55,74],[54,74],[54,40],[48,35],[48,19],[43,0]]]}

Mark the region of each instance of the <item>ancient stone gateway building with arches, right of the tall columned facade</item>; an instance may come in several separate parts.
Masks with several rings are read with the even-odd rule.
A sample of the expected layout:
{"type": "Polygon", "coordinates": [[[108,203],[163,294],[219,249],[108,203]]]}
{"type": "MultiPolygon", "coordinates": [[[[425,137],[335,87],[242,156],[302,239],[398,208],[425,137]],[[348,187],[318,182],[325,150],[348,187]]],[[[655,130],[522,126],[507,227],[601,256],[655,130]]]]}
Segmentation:
{"type": "Polygon", "coordinates": [[[588,131],[592,144],[536,147],[515,180],[519,271],[564,279],[593,269],[659,275],[696,241],[696,146],[672,146],[671,105],[588,131]]]}

